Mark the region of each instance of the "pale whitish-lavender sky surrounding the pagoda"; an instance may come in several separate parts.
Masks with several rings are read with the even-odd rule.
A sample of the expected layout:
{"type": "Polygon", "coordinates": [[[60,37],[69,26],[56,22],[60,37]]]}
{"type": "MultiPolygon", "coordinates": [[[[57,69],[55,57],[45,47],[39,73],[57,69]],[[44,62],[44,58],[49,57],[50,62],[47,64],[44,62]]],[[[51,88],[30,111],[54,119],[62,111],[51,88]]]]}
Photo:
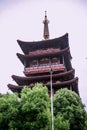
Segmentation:
{"type": "Polygon", "coordinates": [[[79,77],[80,97],[87,105],[87,0],[0,0],[0,92],[8,91],[8,83],[15,84],[11,75],[24,76],[16,40],[43,39],[45,10],[50,38],[69,33],[72,65],[79,77]]]}

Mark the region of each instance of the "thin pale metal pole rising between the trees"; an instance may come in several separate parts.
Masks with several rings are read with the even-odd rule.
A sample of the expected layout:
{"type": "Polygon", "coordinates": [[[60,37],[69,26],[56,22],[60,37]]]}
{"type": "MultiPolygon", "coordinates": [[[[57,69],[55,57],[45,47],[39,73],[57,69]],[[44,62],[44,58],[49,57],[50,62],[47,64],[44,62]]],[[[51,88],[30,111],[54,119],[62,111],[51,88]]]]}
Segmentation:
{"type": "Polygon", "coordinates": [[[54,115],[53,115],[53,89],[52,89],[52,68],[50,70],[50,94],[51,94],[51,115],[52,115],[52,130],[54,130],[54,115]]]}

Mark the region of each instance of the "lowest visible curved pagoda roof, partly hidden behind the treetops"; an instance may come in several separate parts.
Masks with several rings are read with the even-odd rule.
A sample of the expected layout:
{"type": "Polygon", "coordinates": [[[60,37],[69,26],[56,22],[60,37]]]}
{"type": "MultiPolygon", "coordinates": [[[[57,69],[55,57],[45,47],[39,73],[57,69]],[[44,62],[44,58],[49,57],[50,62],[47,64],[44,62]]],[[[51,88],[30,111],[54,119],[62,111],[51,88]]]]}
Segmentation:
{"type": "MultiPolygon", "coordinates": [[[[43,85],[47,86],[48,89],[50,89],[50,82],[47,82],[46,84],[43,84],[43,85]]],[[[74,85],[72,90],[75,91],[77,94],[79,94],[78,93],[78,88],[77,88],[77,86],[78,86],[78,77],[76,77],[76,78],[74,78],[72,80],[69,80],[69,81],[64,81],[64,82],[57,81],[56,83],[52,83],[52,86],[53,86],[54,90],[58,90],[60,88],[66,88],[66,87],[69,88],[70,85],[74,85]]],[[[13,92],[17,92],[17,91],[20,92],[24,86],[26,86],[26,85],[19,85],[18,86],[18,85],[8,84],[9,89],[11,89],[13,92]]],[[[27,85],[27,87],[29,87],[29,88],[34,87],[34,83],[31,83],[30,85],[27,85]]]]}

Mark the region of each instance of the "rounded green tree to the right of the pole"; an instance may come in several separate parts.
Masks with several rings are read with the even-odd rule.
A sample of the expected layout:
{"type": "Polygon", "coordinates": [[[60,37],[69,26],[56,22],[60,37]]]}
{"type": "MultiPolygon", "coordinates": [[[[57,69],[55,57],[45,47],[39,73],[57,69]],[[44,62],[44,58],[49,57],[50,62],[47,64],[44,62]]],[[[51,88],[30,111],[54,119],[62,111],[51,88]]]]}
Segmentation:
{"type": "Polygon", "coordinates": [[[83,130],[87,118],[80,97],[68,89],[60,89],[54,95],[54,115],[62,114],[69,121],[70,130],[83,130]]]}

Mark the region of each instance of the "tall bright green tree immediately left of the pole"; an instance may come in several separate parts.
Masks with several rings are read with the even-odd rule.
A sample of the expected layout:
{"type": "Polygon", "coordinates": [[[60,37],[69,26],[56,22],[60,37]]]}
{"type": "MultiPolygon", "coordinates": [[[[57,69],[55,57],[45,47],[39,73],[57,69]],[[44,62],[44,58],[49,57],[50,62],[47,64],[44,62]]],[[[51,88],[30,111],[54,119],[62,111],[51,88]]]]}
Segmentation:
{"type": "Polygon", "coordinates": [[[21,92],[24,128],[30,130],[50,130],[50,98],[47,87],[35,84],[32,89],[24,88],[21,92]]]}

